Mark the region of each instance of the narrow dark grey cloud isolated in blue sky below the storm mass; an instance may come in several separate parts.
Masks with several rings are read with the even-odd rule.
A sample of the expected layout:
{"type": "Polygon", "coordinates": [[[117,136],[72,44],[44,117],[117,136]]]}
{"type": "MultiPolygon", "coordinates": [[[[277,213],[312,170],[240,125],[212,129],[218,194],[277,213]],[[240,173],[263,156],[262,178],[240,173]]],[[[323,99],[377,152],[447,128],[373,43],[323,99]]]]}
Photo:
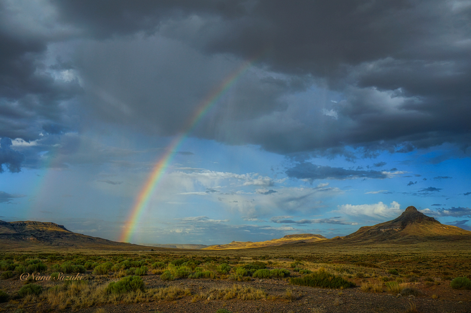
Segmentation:
{"type": "Polygon", "coordinates": [[[386,178],[387,172],[375,170],[354,170],[343,168],[331,168],[330,166],[315,165],[309,162],[296,164],[291,169],[286,170],[288,177],[299,179],[347,179],[347,178],[386,178]]]}

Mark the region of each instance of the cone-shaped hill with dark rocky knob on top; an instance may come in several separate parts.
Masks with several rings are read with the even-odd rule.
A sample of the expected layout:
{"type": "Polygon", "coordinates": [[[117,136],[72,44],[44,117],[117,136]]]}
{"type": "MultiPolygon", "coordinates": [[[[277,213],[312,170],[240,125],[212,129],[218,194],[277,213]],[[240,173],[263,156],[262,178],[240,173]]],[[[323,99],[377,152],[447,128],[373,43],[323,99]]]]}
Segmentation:
{"type": "Polygon", "coordinates": [[[392,221],[373,226],[360,227],[355,233],[336,237],[329,241],[447,241],[471,239],[471,232],[462,228],[441,224],[433,217],[417,211],[410,206],[392,221]]]}

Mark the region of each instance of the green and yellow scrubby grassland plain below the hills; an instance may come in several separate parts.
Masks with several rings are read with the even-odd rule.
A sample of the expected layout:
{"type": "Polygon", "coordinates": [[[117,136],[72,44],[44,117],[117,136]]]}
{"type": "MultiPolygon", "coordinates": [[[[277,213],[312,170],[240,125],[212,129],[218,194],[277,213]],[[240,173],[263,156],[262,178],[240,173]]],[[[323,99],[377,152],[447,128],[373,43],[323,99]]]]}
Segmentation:
{"type": "Polygon", "coordinates": [[[0,254],[4,278],[0,289],[8,297],[0,310],[147,312],[154,308],[175,312],[169,310],[182,307],[215,312],[217,306],[226,304],[231,312],[252,312],[251,307],[256,306],[260,312],[271,312],[272,308],[276,312],[314,312],[315,308],[372,312],[362,307],[366,301],[377,312],[384,303],[397,308],[391,312],[406,312],[412,295],[419,312],[442,312],[444,305],[466,312],[460,310],[470,308],[470,291],[452,289],[450,282],[456,277],[471,277],[470,248],[470,243],[463,241],[349,247],[335,242],[306,243],[239,250],[19,248],[0,254]],[[35,269],[48,275],[82,272],[84,279],[29,281],[41,286],[41,291],[20,297],[18,292],[24,285],[20,272],[35,269]],[[332,275],[341,284],[299,283],[322,281],[319,273],[327,273],[321,275],[327,280],[332,275]],[[110,283],[132,275],[143,281],[144,289],[109,291],[110,283]]]}

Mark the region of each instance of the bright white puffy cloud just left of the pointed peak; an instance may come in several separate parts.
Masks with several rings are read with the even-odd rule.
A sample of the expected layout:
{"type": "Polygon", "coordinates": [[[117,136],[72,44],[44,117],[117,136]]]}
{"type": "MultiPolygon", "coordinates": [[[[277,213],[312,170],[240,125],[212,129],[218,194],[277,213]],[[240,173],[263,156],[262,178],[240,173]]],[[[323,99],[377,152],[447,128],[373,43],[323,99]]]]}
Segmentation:
{"type": "Polygon", "coordinates": [[[388,207],[381,201],[374,204],[342,204],[338,205],[338,210],[333,212],[339,212],[350,216],[369,216],[369,217],[397,217],[402,211],[400,204],[396,201],[392,201],[388,207]]]}

